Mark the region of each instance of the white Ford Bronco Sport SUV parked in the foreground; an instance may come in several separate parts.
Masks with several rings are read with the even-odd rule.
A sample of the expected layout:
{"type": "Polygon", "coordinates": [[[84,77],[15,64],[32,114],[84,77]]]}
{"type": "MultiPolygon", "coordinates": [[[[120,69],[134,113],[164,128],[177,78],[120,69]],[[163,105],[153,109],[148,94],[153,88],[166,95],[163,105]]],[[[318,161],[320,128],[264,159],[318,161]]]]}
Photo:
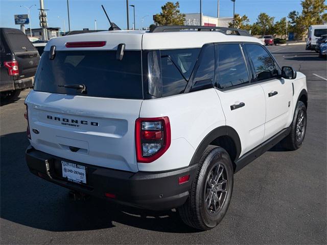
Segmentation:
{"type": "Polygon", "coordinates": [[[245,31],[185,29],[51,39],[26,99],[30,171],[215,227],[235,172],[284,138],[288,149],[301,146],[306,76],[280,68],[245,31]]]}

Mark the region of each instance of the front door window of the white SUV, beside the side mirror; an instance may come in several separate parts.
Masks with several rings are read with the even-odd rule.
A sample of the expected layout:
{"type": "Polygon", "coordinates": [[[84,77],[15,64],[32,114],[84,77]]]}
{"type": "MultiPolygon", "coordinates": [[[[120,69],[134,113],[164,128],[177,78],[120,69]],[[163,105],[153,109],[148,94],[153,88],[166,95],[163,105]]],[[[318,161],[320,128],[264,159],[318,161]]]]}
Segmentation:
{"type": "Polygon", "coordinates": [[[256,81],[278,76],[275,62],[264,47],[257,44],[245,44],[245,46],[249,58],[252,60],[256,81]]]}

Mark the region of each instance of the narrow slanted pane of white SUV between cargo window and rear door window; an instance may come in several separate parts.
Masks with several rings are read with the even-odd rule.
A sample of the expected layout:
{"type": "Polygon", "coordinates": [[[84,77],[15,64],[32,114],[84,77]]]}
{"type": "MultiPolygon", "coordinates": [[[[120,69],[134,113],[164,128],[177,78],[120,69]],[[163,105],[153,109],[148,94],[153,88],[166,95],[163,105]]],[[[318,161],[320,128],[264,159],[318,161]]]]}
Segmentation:
{"type": "Polygon", "coordinates": [[[215,75],[215,46],[214,44],[204,45],[200,52],[199,67],[194,76],[193,87],[212,85],[215,75]]]}

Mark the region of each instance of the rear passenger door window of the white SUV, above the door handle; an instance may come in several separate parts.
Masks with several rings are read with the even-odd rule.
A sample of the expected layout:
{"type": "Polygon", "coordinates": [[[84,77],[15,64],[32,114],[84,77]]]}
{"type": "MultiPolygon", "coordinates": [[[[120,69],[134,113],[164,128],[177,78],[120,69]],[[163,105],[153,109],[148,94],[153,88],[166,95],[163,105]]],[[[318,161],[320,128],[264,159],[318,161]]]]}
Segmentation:
{"type": "Polygon", "coordinates": [[[249,83],[249,76],[239,44],[218,44],[215,85],[225,89],[249,83]]]}

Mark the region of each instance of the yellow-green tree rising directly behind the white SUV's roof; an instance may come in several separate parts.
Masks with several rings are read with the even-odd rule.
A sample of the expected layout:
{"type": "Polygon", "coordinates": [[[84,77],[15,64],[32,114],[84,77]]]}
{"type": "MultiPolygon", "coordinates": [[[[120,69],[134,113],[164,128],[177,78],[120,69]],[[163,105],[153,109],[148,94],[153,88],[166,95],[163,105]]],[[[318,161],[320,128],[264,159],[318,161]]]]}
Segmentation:
{"type": "Polygon", "coordinates": [[[178,2],[168,2],[161,6],[161,12],[154,16],[154,22],[159,25],[183,25],[185,15],[180,13],[178,2]]]}

